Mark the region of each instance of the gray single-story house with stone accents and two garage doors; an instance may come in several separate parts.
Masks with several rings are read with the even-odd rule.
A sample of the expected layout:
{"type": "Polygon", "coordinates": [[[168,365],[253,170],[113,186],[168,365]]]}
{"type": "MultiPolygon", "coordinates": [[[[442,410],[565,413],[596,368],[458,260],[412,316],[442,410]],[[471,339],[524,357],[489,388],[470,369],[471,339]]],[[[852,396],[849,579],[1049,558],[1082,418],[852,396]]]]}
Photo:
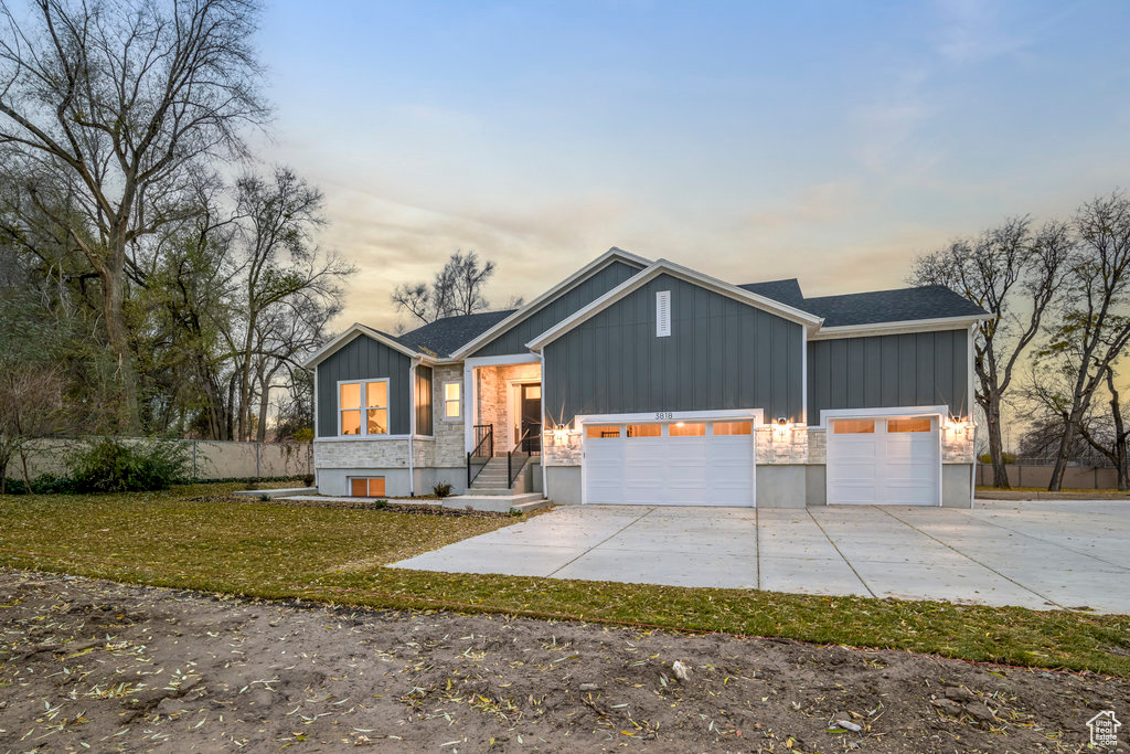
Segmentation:
{"type": "Polygon", "coordinates": [[[971,505],[973,328],[942,286],[806,297],[611,249],[512,311],[314,354],[328,495],[971,505]]]}

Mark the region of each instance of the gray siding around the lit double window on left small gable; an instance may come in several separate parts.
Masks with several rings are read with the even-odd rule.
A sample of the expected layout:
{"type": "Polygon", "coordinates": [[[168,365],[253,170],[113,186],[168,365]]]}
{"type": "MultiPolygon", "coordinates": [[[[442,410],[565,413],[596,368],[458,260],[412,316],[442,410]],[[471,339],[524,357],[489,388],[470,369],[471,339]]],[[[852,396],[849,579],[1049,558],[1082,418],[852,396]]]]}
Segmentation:
{"type": "Polygon", "coordinates": [[[408,434],[408,367],[411,359],[365,335],[327,356],[318,365],[318,436],[338,434],[338,382],[389,378],[389,432],[408,434]]]}

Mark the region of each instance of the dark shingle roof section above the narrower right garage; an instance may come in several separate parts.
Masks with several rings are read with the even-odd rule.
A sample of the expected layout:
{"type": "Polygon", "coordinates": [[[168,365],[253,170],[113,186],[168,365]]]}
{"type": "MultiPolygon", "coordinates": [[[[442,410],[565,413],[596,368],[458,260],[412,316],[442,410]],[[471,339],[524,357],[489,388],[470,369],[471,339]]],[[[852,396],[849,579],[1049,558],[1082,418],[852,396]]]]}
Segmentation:
{"type": "Polygon", "coordinates": [[[944,285],[819,296],[806,298],[801,309],[823,317],[824,327],[974,317],[985,313],[972,301],[944,285]]]}

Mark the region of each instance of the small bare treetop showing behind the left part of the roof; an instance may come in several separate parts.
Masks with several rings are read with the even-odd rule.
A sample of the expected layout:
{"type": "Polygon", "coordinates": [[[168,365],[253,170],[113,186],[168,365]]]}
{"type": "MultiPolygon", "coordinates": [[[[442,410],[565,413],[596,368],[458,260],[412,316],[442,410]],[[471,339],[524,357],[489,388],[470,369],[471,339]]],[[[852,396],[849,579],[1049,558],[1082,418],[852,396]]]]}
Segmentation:
{"type": "Polygon", "coordinates": [[[494,275],[495,263],[481,261],[476,251],[457,250],[427,283],[406,283],[392,292],[392,303],[424,322],[454,314],[473,314],[490,306],[483,295],[494,275]]]}

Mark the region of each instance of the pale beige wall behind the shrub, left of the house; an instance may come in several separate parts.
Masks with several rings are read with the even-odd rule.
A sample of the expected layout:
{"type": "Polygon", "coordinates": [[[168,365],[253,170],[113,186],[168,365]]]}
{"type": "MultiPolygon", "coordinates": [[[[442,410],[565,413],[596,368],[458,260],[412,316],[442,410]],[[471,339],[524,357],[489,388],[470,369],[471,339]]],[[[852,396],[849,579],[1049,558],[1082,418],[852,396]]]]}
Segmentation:
{"type": "MultiPolygon", "coordinates": [[[[25,447],[28,476],[66,476],[67,457],[81,444],[79,440],[35,440],[25,447]]],[[[125,442],[140,442],[125,439],[125,442]]],[[[308,442],[227,442],[218,440],[174,440],[191,445],[191,476],[194,479],[244,477],[292,477],[314,473],[314,451],[308,442]]],[[[23,478],[23,460],[17,456],[8,465],[10,478],[23,478]]]]}

